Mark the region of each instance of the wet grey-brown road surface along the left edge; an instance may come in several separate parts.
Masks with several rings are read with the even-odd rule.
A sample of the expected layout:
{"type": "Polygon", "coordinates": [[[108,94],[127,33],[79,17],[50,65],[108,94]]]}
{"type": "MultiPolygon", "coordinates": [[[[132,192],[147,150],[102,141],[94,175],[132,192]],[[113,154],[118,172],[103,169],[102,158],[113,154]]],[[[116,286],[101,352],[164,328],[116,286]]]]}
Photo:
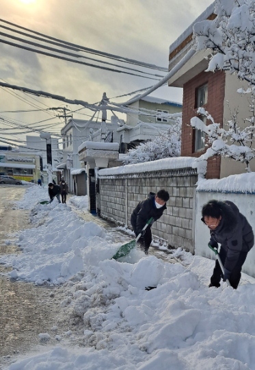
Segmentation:
{"type": "MultiPolygon", "coordinates": [[[[12,203],[22,199],[24,193],[25,186],[0,185],[0,257],[21,253],[16,245],[5,245],[5,240],[12,240],[12,232],[31,227],[29,210],[15,209],[12,203]]],[[[52,333],[59,310],[59,287],[11,280],[3,274],[10,270],[0,264],[0,369],[13,362],[16,354],[40,345],[38,334],[52,333]]],[[[68,330],[68,325],[62,329],[68,330]]]]}

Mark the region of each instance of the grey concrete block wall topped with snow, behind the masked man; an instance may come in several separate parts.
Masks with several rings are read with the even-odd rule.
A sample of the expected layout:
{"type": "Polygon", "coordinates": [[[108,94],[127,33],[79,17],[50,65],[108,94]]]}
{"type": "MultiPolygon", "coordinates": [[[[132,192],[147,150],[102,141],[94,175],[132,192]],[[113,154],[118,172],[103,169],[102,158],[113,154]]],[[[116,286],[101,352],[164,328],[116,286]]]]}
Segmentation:
{"type": "Polygon", "coordinates": [[[180,159],[183,158],[98,171],[100,216],[130,227],[131,213],[138,202],[150,191],[157,193],[164,188],[170,194],[170,200],[161,219],[152,226],[152,234],[163,238],[172,247],[183,247],[193,253],[198,169],[191,167],[193,158],[191,161],[187,158],[188,162],[180,159]]]}

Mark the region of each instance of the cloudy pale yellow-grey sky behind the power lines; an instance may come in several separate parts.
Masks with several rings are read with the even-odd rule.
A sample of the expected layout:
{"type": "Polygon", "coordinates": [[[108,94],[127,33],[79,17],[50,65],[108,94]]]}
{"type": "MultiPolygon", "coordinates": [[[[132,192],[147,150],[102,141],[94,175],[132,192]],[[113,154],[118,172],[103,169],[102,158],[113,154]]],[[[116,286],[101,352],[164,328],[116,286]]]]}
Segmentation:
{"type": "MultiPolygon", "coordinates": [[[[167,68],[170,45],[211,2],[211,0],[0,0],[0,5],[1,19],[5,21],[77,45],[167,68]]],[[[6,31],[0,27],[0,32],[6,31]]],[[[17,34],[15,36],[23,37],[17,34]]],[[[1,35],[0,39],[8,40],[1,35]]],[[[152,79],[103,71],[42,56],[1,42],[0,55],[1,82],[43,90],[68,99],[81,99],[88,103],[100,101],[104,92],[107,97],[116,97],[156,83],[152,79]]],[[[181,103],[183,91],[181,88],[163,86],[155,90],[152,96],[181,103]]],[[[62,101],[31,97],[1,88],[0,116],[5,120],[21,121],[19,122],[21,125],[51,119],[49,123],[52,123],[53,127],[49,127],[49,130],[60,134],[64,120],[52,119],[53,116],[49,112],[4,112],[35,109],[21,99],[27,99],[29,103],[40,108],[66,105],[62,101]]],[[[118,101],[126,99],[123,97],[118,101]]],[[[68,108],[77,110],[81,106],[68,108]]],[[[73,117],[89,118],[83,114],[92,113],[90,110],[81,110],[74,113],[73,117]]],[[[107,118],[110,118],[109,114],[107,118]]],[[[0,140],[3,137],[10,138],[6,136],[8,133],[6,130],[3,136],[2,129],[7,127],[9,126],[3,125],[0,121],[0,140]]],[[[18,134],[16,138],[24,140],[25,135],[18,134]]]]}

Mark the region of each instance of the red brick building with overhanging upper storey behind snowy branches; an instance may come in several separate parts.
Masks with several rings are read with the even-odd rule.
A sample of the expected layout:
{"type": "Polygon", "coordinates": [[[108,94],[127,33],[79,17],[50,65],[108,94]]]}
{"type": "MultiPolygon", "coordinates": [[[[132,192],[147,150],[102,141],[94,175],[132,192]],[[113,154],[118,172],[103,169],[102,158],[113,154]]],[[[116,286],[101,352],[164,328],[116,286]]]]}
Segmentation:
{"type": "MultiPolygon", "coordinates": [[[[214,3],[209,6],[194,21],[185,32],[170,46],[169,71],[187,54],[193,46],[193,25],[198,21],[215,18],[213,14],[214,3]]],[[[197,108],[205,108],[215,120],[226,128],[226,123],[231,119],[231,114],[239,110],[241,125],[249,116],[249,101],[241,97],[237,89],[246,87],[235,75],[224,71],[206,72],[210,51],[195,53],[179,70],[169,79],[169,86],[183,88],[183,126],[181,156],[199,157],[206,151],[206,137],[200,130],[195,130],[190,125],[190,120],[196,116],[197,108]]],[[[205,119],[202,116],[201,119],[205,119]]],[[[205,123],[205,121],[204,121],[205,123]]],[[[252,171],[255,163],[251,162],[252,171]]],[[[228,158],[214,156],[209,158],[206,178],[222,178],[235,173],[245,172],[245,164],[235,162],[228,158]]]]}

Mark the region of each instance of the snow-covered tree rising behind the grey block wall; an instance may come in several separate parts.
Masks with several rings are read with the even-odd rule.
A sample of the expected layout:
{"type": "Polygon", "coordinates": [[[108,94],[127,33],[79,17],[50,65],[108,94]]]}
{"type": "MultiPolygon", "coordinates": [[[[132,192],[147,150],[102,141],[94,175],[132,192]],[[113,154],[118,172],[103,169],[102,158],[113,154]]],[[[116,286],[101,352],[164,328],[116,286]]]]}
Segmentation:
{"type": "Polygon", "coordinates": [[[150,162],[161,158],[180,156],[180,134],[181,119],[178,118],[166,131],[159,131],[155,138],[141,143],[134,149],[129,149],[123,164],[150,162]]]}

